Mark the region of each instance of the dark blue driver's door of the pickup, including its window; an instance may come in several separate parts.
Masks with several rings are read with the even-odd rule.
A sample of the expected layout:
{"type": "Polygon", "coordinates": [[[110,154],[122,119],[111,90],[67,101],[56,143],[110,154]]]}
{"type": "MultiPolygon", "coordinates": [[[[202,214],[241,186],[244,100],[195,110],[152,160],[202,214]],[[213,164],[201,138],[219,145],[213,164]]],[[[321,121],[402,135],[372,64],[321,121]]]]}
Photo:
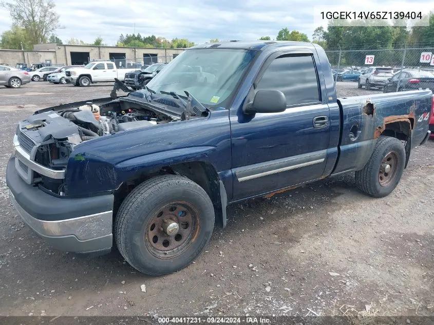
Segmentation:
{"type": "Polygon", "coordinates": [[[280,90],[287,109],[230,112],[233,200],[319,179],[326,166],[330,110],[318,82],[323,74],[313,53],[277,55],[259,70],[246,102],[258,90],[280,90]]]}

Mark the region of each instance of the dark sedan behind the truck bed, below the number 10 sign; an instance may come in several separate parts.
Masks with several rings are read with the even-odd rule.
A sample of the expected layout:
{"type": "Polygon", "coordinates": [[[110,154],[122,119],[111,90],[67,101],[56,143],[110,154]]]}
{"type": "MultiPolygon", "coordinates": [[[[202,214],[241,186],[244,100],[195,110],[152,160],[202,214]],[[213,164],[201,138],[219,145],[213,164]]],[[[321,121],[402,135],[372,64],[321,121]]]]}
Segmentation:
{"type": "Polygon", "coordinates": [[[434,92],[434,73],[422,70],[402,70],[389,78],[389,82],[384,85],[383,92],[395,92],[416,89],[431,89],[434,92]],[[400,80],[401,79],[401,80],[400,80]]]}

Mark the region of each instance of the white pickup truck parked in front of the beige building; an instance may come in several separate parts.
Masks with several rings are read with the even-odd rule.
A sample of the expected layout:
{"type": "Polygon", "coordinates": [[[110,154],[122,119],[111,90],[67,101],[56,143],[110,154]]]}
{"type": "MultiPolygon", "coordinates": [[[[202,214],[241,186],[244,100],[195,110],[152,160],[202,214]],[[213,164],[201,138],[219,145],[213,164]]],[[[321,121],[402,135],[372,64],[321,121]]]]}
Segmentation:
{"type": "Polygon", "coordinates": [[[118,69],[111,61],[94,61],[84,67],[70,68],[65,71],[66,78],[74,86],[87,87],[92,83],[115,81],[115,78],[123,81],[125,73],[136,69],[118,69]]]}

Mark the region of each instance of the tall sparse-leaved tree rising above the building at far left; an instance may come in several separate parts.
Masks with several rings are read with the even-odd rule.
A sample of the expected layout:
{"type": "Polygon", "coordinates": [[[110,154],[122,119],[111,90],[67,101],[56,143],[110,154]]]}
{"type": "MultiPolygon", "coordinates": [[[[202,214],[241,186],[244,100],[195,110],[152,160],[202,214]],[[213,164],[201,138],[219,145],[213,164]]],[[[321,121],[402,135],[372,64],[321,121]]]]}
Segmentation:
{"type": "Polygon", "coordinates": [[[26,29],[33,44],[46,43],[50,33],[59,27],[59,14],[54,11],[52,0],[4,0],[16,26],[26,29]]]}

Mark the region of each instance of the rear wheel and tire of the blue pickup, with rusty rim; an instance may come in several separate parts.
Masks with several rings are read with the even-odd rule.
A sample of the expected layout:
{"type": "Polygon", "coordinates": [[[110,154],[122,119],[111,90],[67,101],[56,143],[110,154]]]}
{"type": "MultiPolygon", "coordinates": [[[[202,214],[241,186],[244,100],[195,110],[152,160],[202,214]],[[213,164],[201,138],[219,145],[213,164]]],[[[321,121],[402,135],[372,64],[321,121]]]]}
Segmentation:
{"type": "Polygon", "coordinates": [[[357,188],[374,198],[389,195],[401,180],[405,158],[400,140],[381,136],[369,161],[363,169],[355,172],[357,188]]]}

